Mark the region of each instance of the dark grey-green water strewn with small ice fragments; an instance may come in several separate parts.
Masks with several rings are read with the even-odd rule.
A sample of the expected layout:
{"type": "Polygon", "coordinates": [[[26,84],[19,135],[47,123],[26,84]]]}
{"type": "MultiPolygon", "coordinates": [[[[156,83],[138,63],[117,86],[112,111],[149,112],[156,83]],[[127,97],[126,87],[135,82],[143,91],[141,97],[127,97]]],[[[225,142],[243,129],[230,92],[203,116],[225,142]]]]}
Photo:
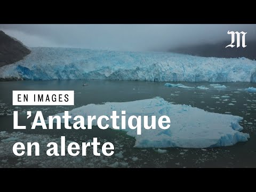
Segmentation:
{"type": "Polygon", "coordinates": [[[256,93],[244,91],[248,87],[255,87],[255,84],[220,83],[227,86],[227,89],[215,89],[209,86],[211,83],[177,83],[195,89],[166,87],[164,82],[140,81],[0,82],[0,167],[256,167],[256,93]],[[202,85],[210,89],[196,89],[202,85]],[[12,106],[13,90],[74,90],[75,106],[12,106]],[[223,95],[230,98],[226,101],[226,98],[221,98],[223,95]],[[100,130],[98,127],[93,127],[92,130],[42,130],[40,127],[30,130],[30,123],[33,122],[37,110],[43,111],[46,119],[49,115],[90,103],[125,102],[155,97],[213,113],[241,116],[243,132],[249,133],[250,139],[220,148],[133,148],[135,139],[122,131],[100,130]],[[234,105],[229,105],[230,103],[234,105]],[[26,130],[13,130],[13,110],[19,111],[19,125],[26,125],[26,130]],[[33,114],[29,119],[26,115],[28,110],[33,114]],[[93,155],[92,148],[89,148],[86,156],[47,156],[47,143],[54,141],[60,144],[60,137],[63,135],[68,142],[79,144],[90,142],[93,137],[98,137],[101,144],[106,141],[113,142],[115,154],[111,157],[97,157],[93,155]],[[11,139],[6,141],[8,138],[11,139]],[[14,156],[12,146],[17,141],[39,142],[40,156],[14,156]]]}

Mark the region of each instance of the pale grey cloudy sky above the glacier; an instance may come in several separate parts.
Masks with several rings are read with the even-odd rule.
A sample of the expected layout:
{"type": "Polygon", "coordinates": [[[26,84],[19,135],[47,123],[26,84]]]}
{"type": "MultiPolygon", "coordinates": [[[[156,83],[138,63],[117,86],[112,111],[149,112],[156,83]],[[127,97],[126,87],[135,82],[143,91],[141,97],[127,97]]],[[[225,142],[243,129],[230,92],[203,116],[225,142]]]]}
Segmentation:
{"type": "Polygon", "coordinates": [[[179,45],[230,41],[228,30],[256,39],[256,25],[7,25],[0,30],[23,44],[97,50],[166,51],[179,45]]]}

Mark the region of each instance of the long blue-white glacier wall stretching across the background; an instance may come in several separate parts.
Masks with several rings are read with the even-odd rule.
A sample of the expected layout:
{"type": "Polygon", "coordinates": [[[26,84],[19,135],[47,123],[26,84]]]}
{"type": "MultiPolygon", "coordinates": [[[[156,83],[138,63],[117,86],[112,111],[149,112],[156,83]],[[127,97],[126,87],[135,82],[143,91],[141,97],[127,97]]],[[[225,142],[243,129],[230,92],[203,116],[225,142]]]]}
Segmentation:
{"type": "Polygon", "coordinates": [[[163,52],[31,47],[0,68],[0,79],[108,79],[158,82],[256,82],[256,61],[163,52]]]}

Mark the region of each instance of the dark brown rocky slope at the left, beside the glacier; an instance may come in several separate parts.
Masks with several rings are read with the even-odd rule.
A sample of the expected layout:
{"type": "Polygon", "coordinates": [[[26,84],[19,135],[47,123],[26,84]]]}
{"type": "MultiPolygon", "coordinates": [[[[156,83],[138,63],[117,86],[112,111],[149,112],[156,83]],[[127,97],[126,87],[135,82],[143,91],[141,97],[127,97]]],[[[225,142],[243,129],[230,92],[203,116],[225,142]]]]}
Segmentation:
{"type": "Polygon", "coordinates": [[[22,60],[31,51],[0,30],[0,67],[22,60]]]}

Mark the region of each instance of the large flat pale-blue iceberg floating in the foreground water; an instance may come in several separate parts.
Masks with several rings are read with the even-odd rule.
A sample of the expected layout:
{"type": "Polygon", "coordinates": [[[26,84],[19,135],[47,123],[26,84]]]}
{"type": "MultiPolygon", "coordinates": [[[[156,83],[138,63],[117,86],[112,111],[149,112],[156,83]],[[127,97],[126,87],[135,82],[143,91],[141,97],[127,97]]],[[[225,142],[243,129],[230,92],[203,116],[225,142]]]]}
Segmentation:
{"type": "MultiPolygon", "coordinates": [[[[159,97],[130,102],[106,102],[102,105],[89,104],[75,108],[69,111],[71,116],[69,123],[74,124],[76,122],[74,117],[77,115],[83,115],[85,122],[87,122],[89,115],[95,115],[97,118],[106,115],[110,118],[112,111],[117,111],[117,115],[121,116],[122,110],[126,110],[126,119],[132,115],[155,115],[157,119],[167,115],[171,119],[171,127],[167,130],[160,129],[158,125],[156,125],[155,130],[142,129],[141,135],[137,135],[136,130],[121,130],[135,138],[134,147],[138,148],[221,147],[235,145],[237,142],[247,141],[250,138],[249,134],[241,132],[243,127],[239,125],[239,122],[242,121],[242,117],[210,113],[187,105],[174,105],[159,97]]],[[[56,115],[62,116],[64,113],[56,115]]],[[[61,121],[64,123],[63,118],[61,121]]],[[[149,118],[149,125],[151,124],[150,121],[151,118],[149,118]]],[[[117,126],[121,126],[121,122],[121,118],[117,119],[117,126]]],[[[104,126],[106,123],[111,126],[111,119],[108,122],[103,121],[102,125],[104,126]]],[[[93,121],[93,125],[96,126],[97,121],[93,121]]],[[[127,121],[126,127],[129,127],[127,121]]]]}

